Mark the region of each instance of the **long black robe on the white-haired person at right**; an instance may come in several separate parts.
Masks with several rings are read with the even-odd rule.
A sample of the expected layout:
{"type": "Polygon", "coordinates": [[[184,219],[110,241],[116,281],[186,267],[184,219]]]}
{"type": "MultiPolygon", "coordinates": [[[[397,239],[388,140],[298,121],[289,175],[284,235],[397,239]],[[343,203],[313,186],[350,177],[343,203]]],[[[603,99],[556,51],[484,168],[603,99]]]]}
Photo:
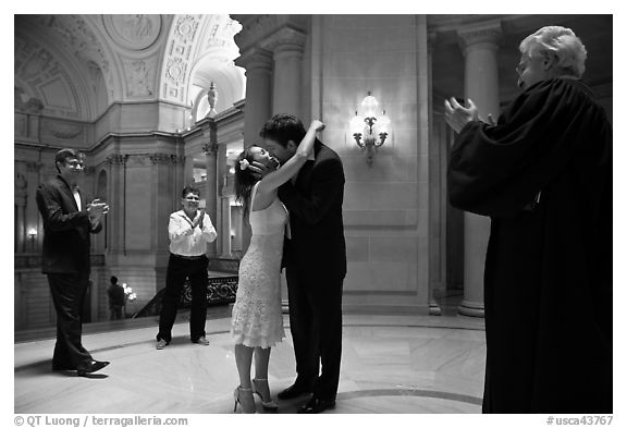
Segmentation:
{"type": "Polygon", "coordinates": [[[451,204],[491,218],[484,413],[612,413],[612,127],[590,89],[529,87],[470,122],[451,204]]]}

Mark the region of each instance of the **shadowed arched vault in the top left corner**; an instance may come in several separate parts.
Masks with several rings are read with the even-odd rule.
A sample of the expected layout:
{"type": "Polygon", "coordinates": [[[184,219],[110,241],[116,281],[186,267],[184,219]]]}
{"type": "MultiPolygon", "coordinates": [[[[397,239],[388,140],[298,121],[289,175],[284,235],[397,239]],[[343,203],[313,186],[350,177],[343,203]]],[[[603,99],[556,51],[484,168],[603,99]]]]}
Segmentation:
{"type": "Polygon", "coordinates": [[[107,86],[113,70],[88,22],[78,15],[15,15],[14,28],[15,86],[41,101],[45,114],[94,118],[99,84],[107,86]]]}

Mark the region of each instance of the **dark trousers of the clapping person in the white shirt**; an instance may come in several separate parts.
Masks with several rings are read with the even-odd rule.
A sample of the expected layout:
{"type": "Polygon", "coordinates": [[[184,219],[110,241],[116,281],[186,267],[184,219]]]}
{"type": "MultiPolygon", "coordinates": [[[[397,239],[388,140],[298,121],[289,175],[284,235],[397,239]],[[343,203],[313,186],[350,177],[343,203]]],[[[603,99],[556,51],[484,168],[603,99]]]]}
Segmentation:
{"type": "Polygon", "coordinates": [[[197,259],[186,259],[170,254],[168,272],[165,273],[165,293],[159,316],[159,333],[157,340],[172,340],[172,326],[176,319],[176,310],[185,280],[189,278],[192,285],[192,310],[189,314],[189,338],[193,342],[205,335],[207,320],[207,285],[209,259],[205,256],[197,259]]]}

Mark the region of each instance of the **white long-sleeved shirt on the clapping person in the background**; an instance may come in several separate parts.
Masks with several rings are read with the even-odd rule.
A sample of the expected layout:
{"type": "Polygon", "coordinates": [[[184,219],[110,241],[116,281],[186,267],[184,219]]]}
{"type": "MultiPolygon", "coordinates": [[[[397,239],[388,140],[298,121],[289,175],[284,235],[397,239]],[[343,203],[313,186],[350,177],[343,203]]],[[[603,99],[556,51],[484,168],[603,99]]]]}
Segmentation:
{"type": "MultiPolygon", "coordinates": [[[[196,216],[199,215],[197,211],[196,216]]],[[[193,220],[184,210],[170,215],[168,223],[170,253],[186,257],[201,256],[207,252],[207,243],[216,241],[218,234],[207,213],[202,219],[202,229],[199,227],[192,229],[192,224],[193,220]]]]}

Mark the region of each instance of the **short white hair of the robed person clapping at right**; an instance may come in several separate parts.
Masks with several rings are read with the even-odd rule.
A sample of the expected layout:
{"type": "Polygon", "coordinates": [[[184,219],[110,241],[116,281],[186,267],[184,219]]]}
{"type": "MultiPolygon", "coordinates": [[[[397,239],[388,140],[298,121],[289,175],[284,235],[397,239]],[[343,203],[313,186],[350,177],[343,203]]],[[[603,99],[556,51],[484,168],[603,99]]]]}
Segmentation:
{"type": "Polygon", "coordinates": [[[557,57],[557,66],[565,74],[580,78],[586,70],[586,47],[570,28],[560,26],[542,27],[518,47],[520,53],[532,57],[553,52],[557,57]]]}

